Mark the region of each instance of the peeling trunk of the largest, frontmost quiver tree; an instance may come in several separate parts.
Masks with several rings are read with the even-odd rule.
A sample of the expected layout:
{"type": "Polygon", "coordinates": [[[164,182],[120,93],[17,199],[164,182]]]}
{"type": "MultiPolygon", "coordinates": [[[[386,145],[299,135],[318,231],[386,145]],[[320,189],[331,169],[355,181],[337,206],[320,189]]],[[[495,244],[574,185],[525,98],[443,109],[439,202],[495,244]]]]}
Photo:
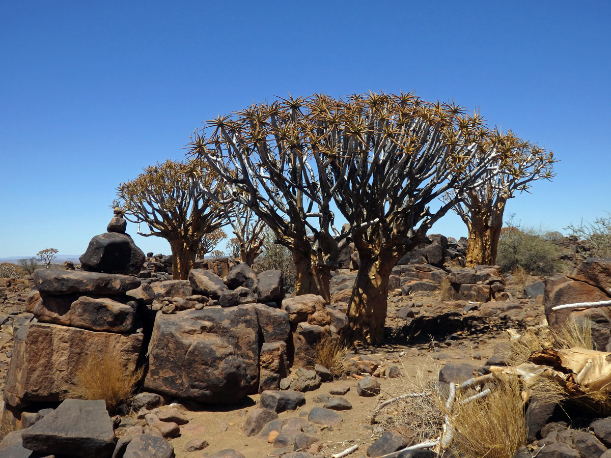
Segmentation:
{"type": "Polygon", "coordinates": [[[374,250],[359,250],[360,266],[348,305],[352,339],[379,344],[384,338],[388,283],[396,260],[374,250]]]}

